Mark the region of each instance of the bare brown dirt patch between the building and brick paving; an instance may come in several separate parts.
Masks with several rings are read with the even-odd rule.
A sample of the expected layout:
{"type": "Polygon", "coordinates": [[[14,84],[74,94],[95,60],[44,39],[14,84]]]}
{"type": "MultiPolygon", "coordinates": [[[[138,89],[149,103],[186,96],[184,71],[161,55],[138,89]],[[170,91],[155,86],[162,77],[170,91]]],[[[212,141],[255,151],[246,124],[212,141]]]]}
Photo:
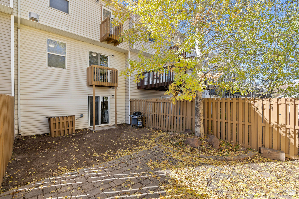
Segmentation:
{"type": "Polygon", "coordinates": [[[15,140],[0,192],[142,150],[154,139],[152,132],[120,125],[97,132],[80,129],[72,135],[52,138],[45,134],[15,140]]]}

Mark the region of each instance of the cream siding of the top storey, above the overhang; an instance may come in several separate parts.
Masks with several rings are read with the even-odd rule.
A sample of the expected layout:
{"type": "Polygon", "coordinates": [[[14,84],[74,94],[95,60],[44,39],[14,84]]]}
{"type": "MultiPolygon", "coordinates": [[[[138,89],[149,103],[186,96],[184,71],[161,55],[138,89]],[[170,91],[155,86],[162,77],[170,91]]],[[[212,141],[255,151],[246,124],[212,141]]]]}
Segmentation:
{"type": "MultiPolygon", "coordinates": [[[[39,24],[100,41],[101,3],[105,5],[104,1],[96,3],[95,0],[70,0],[69,14],[49,7],[48,2],[49,0],[40,0],[38,3],[22,0],[21,17],[28,19],[28,12],[34,12],[39,14],[39,24]],[[68,26],[68,30],[65,26],[68,26]]],[[[124,30],[128,30],[129,23],[123,25],[124,30]]],[[[119,44],[117,47],[129,50],[128,43],[119,44]]]]}

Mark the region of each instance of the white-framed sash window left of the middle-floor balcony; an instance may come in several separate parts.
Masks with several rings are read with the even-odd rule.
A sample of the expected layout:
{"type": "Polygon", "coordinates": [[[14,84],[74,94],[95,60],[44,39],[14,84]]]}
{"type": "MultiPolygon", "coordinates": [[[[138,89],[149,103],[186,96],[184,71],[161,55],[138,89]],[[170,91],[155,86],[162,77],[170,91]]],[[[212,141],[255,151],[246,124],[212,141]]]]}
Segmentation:
{"type": "Polygon", "coordinates": [[[66,68],[66,43],[48,39],[48,67],[66,68]]]}

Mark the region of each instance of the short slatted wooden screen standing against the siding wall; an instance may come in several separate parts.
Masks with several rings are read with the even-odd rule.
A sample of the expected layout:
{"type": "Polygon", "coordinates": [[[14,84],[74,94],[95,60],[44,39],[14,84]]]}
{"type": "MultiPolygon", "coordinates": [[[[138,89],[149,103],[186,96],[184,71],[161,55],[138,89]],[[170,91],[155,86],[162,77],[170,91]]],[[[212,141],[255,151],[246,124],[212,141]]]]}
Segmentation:
{"type": "Polygon", "coordinates": [[[75,133],[75,115],[48,118],[51,137],[75,133]]]}

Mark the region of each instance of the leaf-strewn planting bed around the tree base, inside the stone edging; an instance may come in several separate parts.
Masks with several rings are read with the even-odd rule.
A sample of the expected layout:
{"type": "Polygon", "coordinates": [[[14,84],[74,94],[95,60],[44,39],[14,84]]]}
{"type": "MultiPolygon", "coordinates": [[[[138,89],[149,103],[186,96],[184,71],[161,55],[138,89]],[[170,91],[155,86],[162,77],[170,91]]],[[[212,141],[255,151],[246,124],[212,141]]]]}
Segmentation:
{"type": "Polygon", "coordinates": [[[165,136],[164,138],[160,139],[160,141],[162,144],[169,146],[173,149],[181,150],[185,153],[190,153],[194,155],[237,156],[240,154],[247,153],[248,151],[253,151],[252,149],[242,148],[239,144],[226,142],[221,139],[219,140],[219,149],[214,149],[212,145],[208,144],[208,142],[205,141],[205,139],[208,139],[208,137],[199,138],[193,135],[175,133],[169,136],[165,136]],[[188,147],[185,144],[185,140],[187,138],[198,138],[200,141],[202,141],[202,145],[196,148],[190,146],[188,147]]]}

